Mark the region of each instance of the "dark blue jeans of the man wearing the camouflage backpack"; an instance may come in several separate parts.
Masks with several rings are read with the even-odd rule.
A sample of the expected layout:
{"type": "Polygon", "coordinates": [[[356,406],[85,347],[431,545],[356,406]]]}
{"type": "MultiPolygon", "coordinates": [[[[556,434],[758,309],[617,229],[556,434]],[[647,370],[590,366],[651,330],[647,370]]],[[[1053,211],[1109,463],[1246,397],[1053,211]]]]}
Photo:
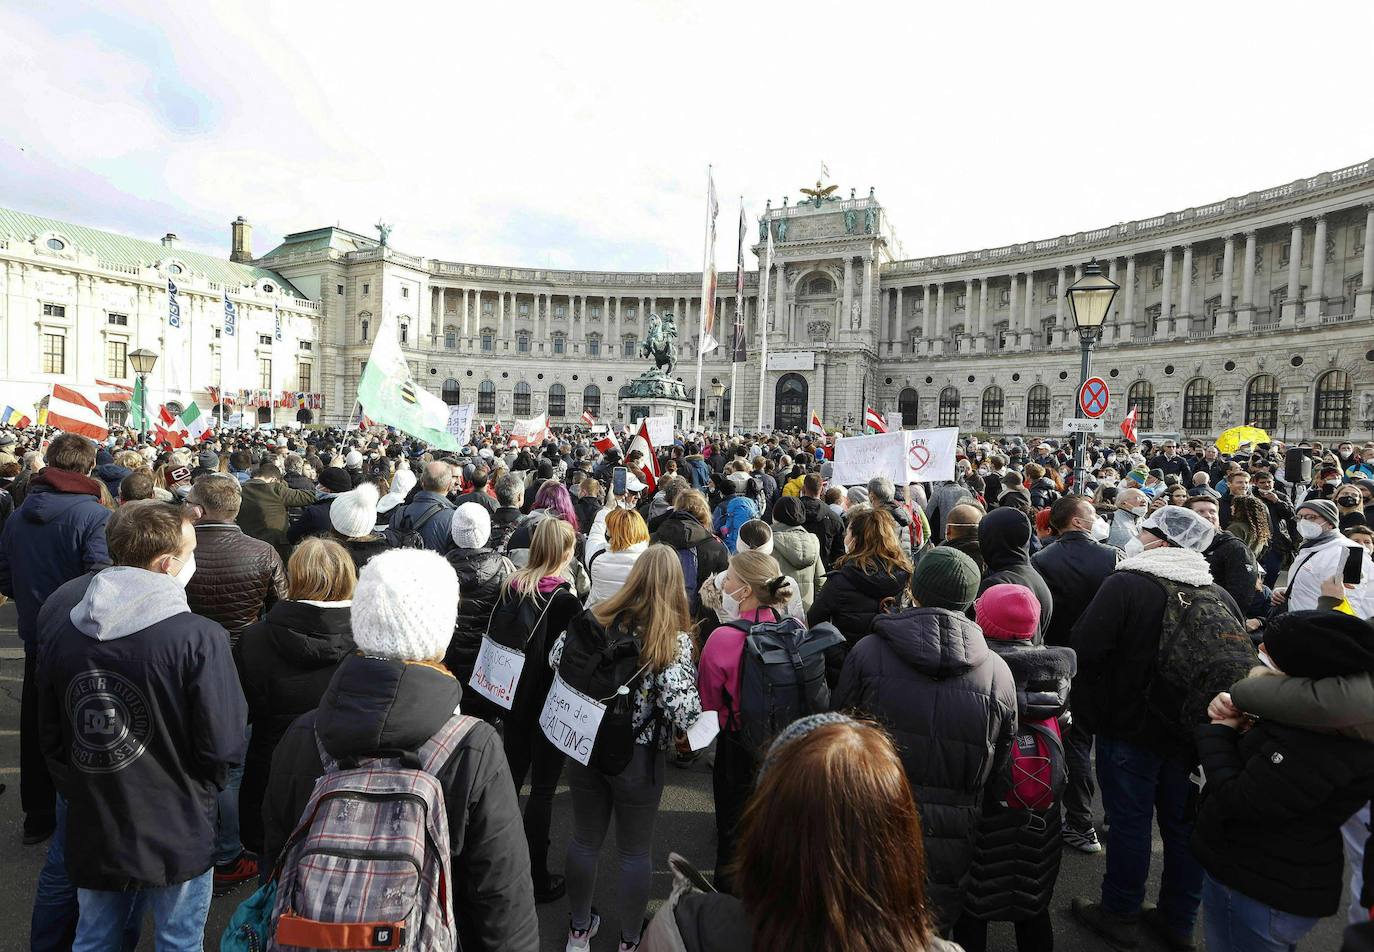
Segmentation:
{"type": "Polygon", "coordinates": [[[1184,936],[1193,933],[1202,894],[1202,867],[1189,845],[1193,835],[1191,771],[1191,758],[1183,754],[1162,754],[1098,735],[1102,809],[1112,817],[1102,908],[1121,916],[1140,911],[1150,875],[1150,820],[1154,819],[1164,839],[1160,916],[1172,931],[1184,936]]]}

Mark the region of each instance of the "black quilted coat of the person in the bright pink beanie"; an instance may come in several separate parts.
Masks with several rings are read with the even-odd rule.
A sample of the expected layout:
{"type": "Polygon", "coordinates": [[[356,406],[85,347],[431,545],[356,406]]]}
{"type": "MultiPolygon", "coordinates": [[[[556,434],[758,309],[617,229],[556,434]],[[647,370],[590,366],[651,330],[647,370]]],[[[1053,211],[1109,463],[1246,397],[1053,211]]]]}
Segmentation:
{"type": "MultiPolygon", "coordinates": [[[[1017,683],[1017,723],[1063,717],[1069,681],[1077,668],[1073,648],[1035,647],[1029,642],[988,640],[1017,683]]],[[[965,915],[989,922],[1020,922],[1050,905],[1059,876],[1059,804],[1028,811],[1007,806],[1009,769],[988,783],[982,823],[974,842],[965,915]]],[[[1055,793],[1058,800],[1058,791],[1055,793]]]]}

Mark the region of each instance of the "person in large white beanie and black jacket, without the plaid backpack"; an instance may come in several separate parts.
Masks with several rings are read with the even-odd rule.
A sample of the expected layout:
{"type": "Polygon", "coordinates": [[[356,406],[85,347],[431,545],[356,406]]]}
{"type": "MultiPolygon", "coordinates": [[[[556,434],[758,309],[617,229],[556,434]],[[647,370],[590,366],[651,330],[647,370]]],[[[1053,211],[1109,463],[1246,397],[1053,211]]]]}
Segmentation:
{"type": "Polygon", "coordinates": [[[434,776],[448,813],[459,947],[537,952],[529,854],[500,736],[475,718],[451,725],[463,688],[438,662],[458,614],[453,570],[430,551],[383,552],[359,574],[349,611],[359,653],[339,662],[319,707],[297,718],[272,756],[265,860],[295,830],[324,773],[322,751],[337,762],[394,757],[444,732],[452,750],[434,776]]]}

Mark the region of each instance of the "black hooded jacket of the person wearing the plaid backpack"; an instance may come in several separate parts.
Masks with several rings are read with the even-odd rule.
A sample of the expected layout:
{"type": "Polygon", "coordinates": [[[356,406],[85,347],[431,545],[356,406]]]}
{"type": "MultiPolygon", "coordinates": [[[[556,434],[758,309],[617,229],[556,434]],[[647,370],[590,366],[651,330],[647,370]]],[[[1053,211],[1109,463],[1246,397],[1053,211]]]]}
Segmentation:
{"type": "MultiPolygon", "coordinates": [[[[463,690],[433,665],[349,655],[317,710],[301,716],[272,757],[262,804],[265,863],[282,845],[324,772],[316,747],[335,760],[419,750],[458,709],[463,690]]],[[[477,724],[436,772],[448,809],[453,915],[464,952],[537,952],[539,920],[529,848],[515,783],[489,724],[477,724]]]]}

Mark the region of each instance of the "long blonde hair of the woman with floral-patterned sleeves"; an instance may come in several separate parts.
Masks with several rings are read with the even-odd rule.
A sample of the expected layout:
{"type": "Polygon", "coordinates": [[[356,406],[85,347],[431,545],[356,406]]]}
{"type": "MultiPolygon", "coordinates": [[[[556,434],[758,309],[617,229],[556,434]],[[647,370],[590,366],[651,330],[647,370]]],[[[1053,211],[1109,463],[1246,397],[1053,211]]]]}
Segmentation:
{"type": "Polygon", "coordinates": [[[677,659],[677,635],[691,631],[687,582],[677,554],[668,545],[650,545],[620,591],[591,611],[606,628],[622,617],[625,628],[639,635],[639,661],[654,673],[664,670],[677,659]]]}

